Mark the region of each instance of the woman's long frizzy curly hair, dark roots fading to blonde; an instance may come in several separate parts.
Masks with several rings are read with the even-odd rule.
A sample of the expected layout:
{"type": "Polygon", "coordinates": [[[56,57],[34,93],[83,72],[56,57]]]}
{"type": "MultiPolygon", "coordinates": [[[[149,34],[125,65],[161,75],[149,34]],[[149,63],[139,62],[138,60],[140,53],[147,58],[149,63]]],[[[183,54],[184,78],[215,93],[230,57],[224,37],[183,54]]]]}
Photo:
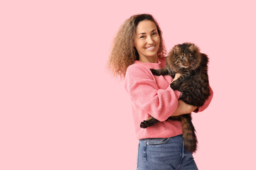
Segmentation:
{"type": "Polygon", "coordinates": [[[157,31],[160,36],[160,45],[157,52],[158,57],[165,57],[166,47],[162,38],[162,32],[159,24],[150,14],[139,14],[128,18],[122,26],[120,26],[112,45],[112,52],[108,62],[110,72],[114,76],[125,77],[127,67],[133,64],[135,60],[139,60],[139,54],[134,47],[134,35],[140,21],[149,20],[156,24],[157,31]]]}

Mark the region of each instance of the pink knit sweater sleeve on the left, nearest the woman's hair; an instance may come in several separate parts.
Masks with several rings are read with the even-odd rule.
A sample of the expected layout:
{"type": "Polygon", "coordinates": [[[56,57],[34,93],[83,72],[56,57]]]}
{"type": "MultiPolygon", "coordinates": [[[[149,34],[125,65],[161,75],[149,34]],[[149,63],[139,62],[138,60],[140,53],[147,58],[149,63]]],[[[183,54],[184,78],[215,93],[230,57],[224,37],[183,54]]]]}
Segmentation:
{"type": "Polygon", "coordinates": [[[159,89],[147,68],[128,67],[124,86],[132,102],[159,121],[165,121],[178,107],[176,93],[170,86],[159,89]]]}

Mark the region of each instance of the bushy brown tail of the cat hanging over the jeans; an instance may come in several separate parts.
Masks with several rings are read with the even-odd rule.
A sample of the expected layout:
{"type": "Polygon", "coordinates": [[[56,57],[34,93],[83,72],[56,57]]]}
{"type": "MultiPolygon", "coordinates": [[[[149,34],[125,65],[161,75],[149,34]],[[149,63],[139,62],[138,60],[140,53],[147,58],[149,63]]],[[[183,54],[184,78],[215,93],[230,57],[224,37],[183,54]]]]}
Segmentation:
{"type": "Polygon", "coordinates": [[[196,130],[191,121],[191,113],[181,117],[184,147],[188,152],[196,152],[197,138],[196,130]]]}

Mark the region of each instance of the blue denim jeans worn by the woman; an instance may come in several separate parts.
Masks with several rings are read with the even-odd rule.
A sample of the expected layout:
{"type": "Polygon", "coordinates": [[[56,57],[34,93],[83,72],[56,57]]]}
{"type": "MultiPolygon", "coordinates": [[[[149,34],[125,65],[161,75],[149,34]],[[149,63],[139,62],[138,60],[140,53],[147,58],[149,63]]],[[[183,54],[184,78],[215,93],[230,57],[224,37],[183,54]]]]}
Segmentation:
{"type": "Polygon", "coordinates": [[[182,135],[139,140],[137,170],[198,169],[182,135]]]}

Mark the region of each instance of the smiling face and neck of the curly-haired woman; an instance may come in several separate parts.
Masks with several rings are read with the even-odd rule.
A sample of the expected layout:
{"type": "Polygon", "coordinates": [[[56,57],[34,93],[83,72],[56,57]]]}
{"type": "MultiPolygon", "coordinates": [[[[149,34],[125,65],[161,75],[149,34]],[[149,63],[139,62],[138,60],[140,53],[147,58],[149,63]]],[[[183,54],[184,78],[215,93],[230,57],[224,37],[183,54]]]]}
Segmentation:
{"type": "Polygon", "coordinates": [[[156,24],[149,20],[139,22],[134,36],[134,46],[139,53],[139,60],[157,62],[160,36],[156,24]]]}

